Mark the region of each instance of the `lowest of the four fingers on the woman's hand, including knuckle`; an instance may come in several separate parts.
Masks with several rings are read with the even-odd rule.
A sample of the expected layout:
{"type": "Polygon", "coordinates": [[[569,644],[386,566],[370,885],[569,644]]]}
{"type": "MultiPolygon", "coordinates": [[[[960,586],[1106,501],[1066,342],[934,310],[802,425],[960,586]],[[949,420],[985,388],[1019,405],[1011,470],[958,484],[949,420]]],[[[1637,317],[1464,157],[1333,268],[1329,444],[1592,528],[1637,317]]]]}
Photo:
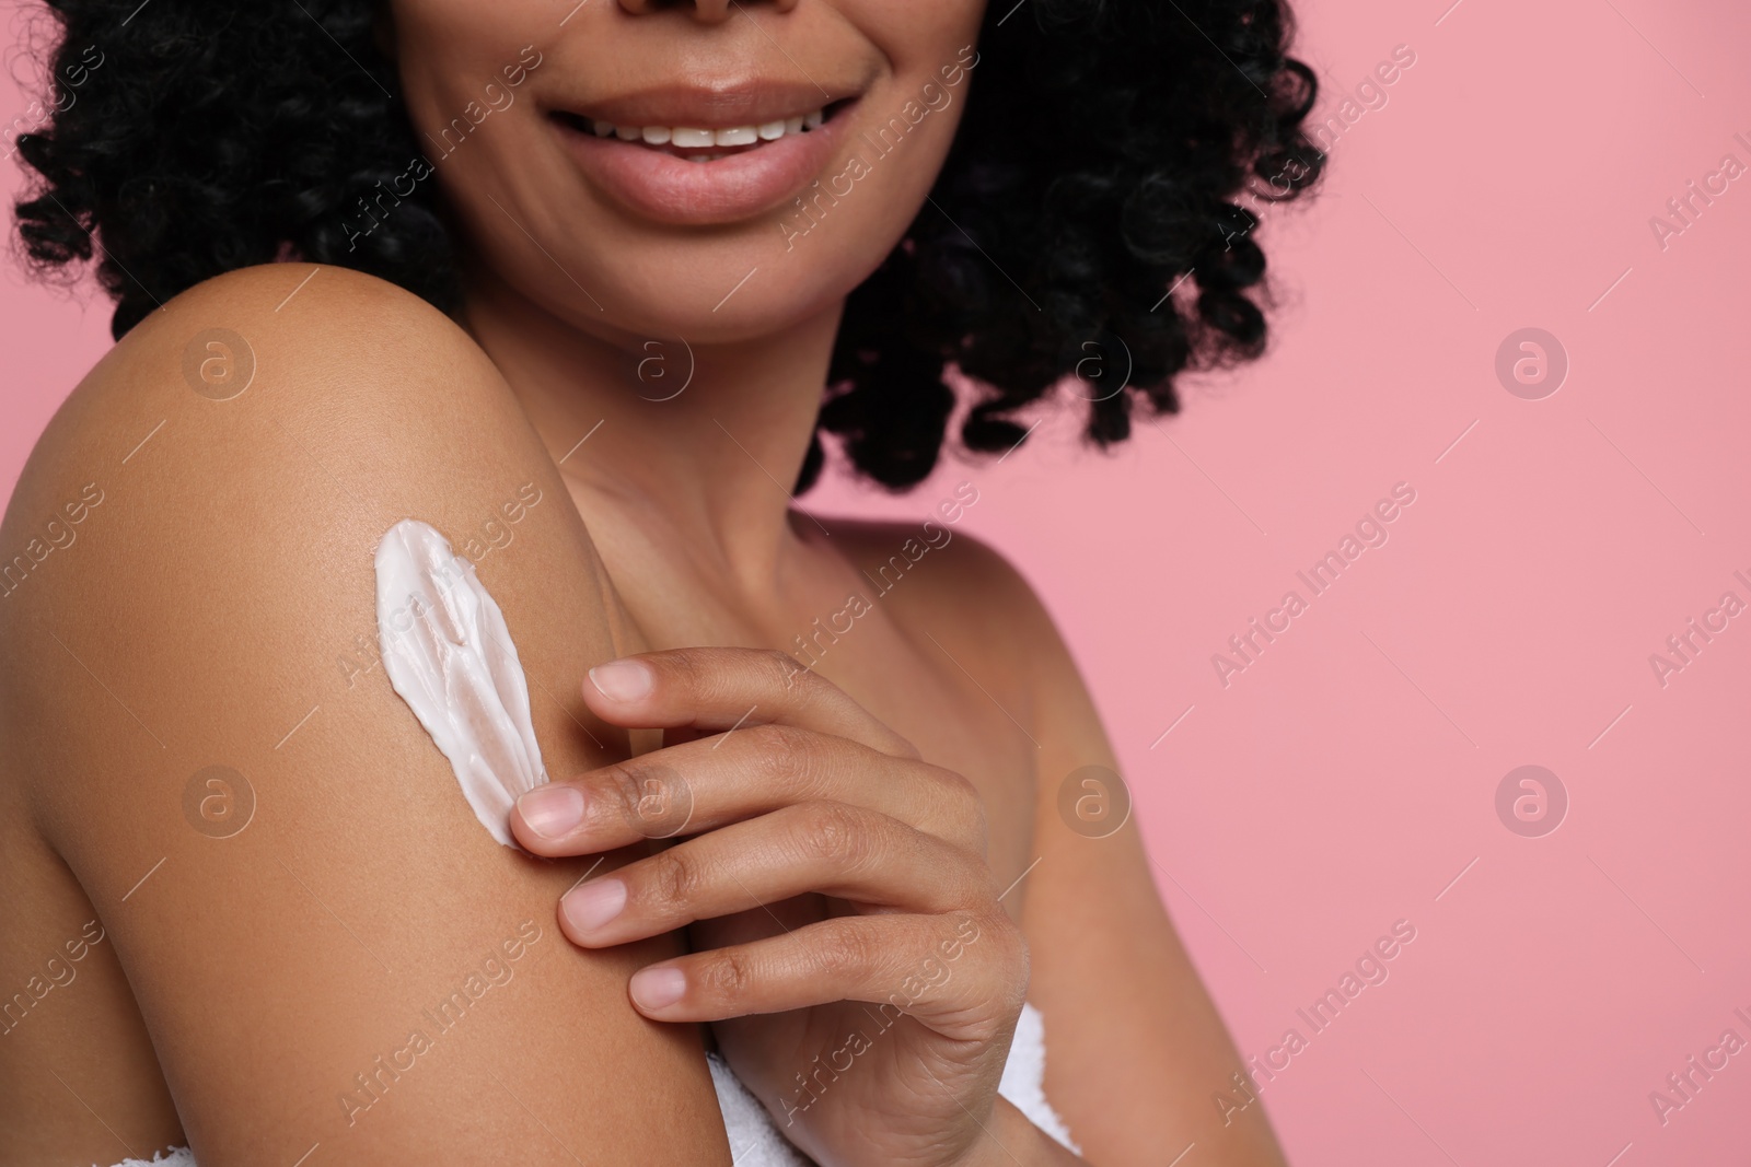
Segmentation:
{"type": "Polygon", "coordinates": [[[662,1022],[867,1001],[879,1029],[905,1013],[947,1038],[989,1041],[1026,997],[1028,947],[1002,912],[846,915],[653,964],[629,992],[662,1022]]]}

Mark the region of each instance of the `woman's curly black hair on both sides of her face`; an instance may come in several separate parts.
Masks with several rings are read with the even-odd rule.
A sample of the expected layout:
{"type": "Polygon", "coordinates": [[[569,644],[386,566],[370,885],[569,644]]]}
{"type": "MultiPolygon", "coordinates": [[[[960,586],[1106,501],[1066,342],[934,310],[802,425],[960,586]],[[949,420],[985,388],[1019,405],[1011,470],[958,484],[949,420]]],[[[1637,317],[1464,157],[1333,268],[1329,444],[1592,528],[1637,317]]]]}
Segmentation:
{"type": "MultiPolygon", "coordinates": [[[[18,135],[40,175],[16,205],[26,261],[46,275],[96,254],[117,339],[205,278],[287,257],[454,313],[436,184],[364,236],[345,227],[420,154],[378,3],[179,0],[124,19],[138,0],[49,0],[53,100],[18,135]]],[[[935,189],[846,304],[798,493],[823,430],[890,490],[928,476],[951,366],[977,387],[961,443],[996,451],[1089,346],[1129,366],[1089,401],[1100,446],[1129,436],[1133,399],[1177,413],[1182,369],[1257,357],[1264,252],[1241,201],[1292,199],[1326,163],[1292,31],[1285,0],[995,0],[935,189]]]]}

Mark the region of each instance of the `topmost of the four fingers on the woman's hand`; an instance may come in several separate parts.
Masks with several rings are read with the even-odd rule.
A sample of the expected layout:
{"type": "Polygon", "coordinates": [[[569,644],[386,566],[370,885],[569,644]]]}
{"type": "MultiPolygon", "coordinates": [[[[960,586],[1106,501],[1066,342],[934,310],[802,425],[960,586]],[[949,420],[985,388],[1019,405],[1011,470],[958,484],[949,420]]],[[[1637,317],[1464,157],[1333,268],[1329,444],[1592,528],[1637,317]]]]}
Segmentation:
{"type": "Polygon", "coordinates": [[[623,656],[590,670],[583,700],[606,723],[718,733],[777,723],[918,758],[844,689],[769,649],[693,647],[623,656]]]}

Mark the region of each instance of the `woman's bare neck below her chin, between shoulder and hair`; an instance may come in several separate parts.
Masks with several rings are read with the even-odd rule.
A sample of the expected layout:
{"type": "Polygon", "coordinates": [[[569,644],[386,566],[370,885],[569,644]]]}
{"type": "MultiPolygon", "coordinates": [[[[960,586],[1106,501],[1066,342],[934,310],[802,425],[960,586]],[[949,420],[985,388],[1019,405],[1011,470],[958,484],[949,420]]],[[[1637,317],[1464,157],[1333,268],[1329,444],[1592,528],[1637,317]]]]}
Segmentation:
{"type": "Polygon", "coordinates": [[[510,381],[587,520],[597,506],[629,514],[755,598],[797,549],[790,492],[842,308],[756,341],[602,339],[471,266],[461,324],[510,381]]]}

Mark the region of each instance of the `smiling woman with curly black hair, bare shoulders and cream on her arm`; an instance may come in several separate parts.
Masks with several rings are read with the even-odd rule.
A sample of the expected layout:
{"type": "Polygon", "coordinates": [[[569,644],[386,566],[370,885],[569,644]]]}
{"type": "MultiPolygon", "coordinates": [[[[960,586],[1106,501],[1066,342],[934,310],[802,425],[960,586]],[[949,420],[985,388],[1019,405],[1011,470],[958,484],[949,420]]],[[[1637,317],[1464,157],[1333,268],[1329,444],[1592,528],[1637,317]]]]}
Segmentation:
{"type": "Polygon", "coordinates": [[[19,233],[117,345],[0,528],[0,1162],[728,1164],[742,1088],[821,1164],[1282,1162],[977,472],[793,502],[1261,350],[1276,0],[51,7],[19,233]],[[408,518],[527,677],[499,822],[378,654],[408,518]]]}

